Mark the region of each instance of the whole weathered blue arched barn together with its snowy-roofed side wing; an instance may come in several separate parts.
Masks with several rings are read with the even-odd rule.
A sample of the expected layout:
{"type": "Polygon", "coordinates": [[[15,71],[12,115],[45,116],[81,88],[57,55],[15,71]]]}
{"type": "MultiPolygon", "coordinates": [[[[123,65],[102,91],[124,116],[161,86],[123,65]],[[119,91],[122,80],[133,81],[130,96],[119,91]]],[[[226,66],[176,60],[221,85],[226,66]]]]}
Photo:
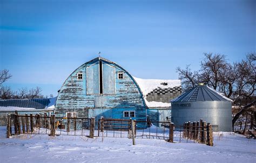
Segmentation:
{"type": "Polygon", "coordinates": [[[64,81],[55,114],[140,121],[150,114],[152,120],[166,120],[171,117],[170,100],[180,94],[180,80],[135,78],[118,64],[97,57],[79,66],[64,81]]]}

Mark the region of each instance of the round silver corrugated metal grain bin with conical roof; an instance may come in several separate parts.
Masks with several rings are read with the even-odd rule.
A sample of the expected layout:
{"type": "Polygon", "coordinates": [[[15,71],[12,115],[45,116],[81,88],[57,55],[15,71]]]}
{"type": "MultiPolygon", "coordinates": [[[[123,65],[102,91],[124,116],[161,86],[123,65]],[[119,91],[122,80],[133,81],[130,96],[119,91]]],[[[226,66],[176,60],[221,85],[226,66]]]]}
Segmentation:
{"type": "Polygon", "coordinates": [[[174,125],[203,119],[212,124],[213,131],[232,131],[232,100],[208,86],[199,84],[171,104],[174,125]]]}

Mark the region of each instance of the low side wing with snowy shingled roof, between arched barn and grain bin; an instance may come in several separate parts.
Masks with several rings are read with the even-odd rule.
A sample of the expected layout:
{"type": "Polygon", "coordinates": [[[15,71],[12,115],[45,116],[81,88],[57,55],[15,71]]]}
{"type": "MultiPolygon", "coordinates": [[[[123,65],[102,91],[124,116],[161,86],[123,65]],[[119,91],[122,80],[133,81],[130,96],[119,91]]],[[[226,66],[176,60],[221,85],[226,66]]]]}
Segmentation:
{"type": "MultiPolygon", "coordinates": [[[[181,82],[178,79],[140,79],[135,78],[143,92],[147,106],[147,116],[151,121],[170,121],[170,100],[181,94],[181,82]]],[[[161,123],[153,123],[160,126],[161,123]]]]}

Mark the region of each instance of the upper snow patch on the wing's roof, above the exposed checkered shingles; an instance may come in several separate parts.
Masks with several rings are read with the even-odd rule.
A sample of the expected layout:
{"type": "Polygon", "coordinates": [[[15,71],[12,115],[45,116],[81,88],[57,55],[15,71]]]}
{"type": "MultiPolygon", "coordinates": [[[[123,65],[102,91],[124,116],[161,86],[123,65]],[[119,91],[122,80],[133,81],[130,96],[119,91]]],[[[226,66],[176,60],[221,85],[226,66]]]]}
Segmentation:
{"type": "Polygon", "coordinates": [[[136,77],[133,77],[133,78],[139,85],[140,90],[142,90],[144,96],[146,96],[146,94],[150,93],[154,89],[157,89],[158,87],[160,87],[161,89],[167,89],[169,87],[181,86],[181,81],[178,79],[165,80],[165,79],[141,79],[136,77]],[[162,85],[161,83],[167,83],[167,85],[162,85]]]}

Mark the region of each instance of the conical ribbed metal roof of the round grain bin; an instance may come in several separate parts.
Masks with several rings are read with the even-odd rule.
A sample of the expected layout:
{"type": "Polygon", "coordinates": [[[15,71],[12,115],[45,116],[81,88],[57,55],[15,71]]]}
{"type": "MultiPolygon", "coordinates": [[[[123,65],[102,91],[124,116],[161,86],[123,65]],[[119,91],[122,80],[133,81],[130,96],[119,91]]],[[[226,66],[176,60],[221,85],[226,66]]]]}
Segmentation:
{"type": "Polygon", "coordinates": [[[193,101],[232,101],[219,92],[205,85],[198,85],[191,90],[181,94],[171,102],[193,102],[193,101]]]}

